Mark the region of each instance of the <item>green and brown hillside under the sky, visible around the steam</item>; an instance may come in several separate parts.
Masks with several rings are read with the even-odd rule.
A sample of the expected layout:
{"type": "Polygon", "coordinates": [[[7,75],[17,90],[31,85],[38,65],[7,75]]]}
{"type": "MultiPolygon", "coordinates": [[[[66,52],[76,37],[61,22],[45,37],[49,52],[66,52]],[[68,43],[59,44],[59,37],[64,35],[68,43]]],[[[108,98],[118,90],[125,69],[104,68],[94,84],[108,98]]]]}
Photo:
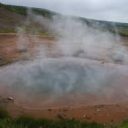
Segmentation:
{"type": "MultiPolygon", "coordinates": [[[[39,15],[42,15],[47,18],[52,18],[53,15],[60,15],[55,12],[49,11],[47,9],[40,8],[31,8],[31,10],[39,15]]],[[[9,33],[16,32],[16,27],[23,25],[23,21],[25,21],[28,13],[28,7],[22,6],[12,6],[5,5],[0,3],[0,32],[1,33],[9,33]]],[[[81,21],[85,22],[91,27],[109,30],[113,33],[118,32],[122,36],[128,36],[128,23],[119,23],[119,22],[108,22],[108,21],[98,21],[93,19],[86,19],[82,17],[74,17],[78,18],[81,21]]],[[[40,26],[36,23],[32,23],[35,28],[39,28],[40,26]]],[[[29,27],[31,28],[31,27],[29,27]]],[[[34,28],[34,27],[33,27],[34,28]]],[[[42,32],[42,30],[40,30],[42,32]]],[[[45,30],[43,30],[45,32],[45,30]]]]}

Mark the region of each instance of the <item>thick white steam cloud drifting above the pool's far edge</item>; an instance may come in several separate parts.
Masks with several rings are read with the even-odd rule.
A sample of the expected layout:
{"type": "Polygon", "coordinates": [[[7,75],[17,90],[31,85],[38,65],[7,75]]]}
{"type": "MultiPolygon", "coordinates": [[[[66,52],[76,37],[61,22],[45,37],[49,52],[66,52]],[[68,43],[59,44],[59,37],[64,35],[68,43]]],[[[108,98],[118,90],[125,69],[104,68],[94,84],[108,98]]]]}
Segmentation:
{"type": "MultiPolygon", "coordinates": [[[[31,14],[31,18],[49,32],[58,35],[54,44],[54,52],[57,54],[127,63],[127,48],[121,44],[122,41],[118,33],[112,34],[106,29],[101,30],[102,26],[99,29],[94,29],[84,21],[71,17],[54,16],[51,21],[31,14]]],[[[43,52],[44,50],[42,54],[44,54],[43,52]]]]}

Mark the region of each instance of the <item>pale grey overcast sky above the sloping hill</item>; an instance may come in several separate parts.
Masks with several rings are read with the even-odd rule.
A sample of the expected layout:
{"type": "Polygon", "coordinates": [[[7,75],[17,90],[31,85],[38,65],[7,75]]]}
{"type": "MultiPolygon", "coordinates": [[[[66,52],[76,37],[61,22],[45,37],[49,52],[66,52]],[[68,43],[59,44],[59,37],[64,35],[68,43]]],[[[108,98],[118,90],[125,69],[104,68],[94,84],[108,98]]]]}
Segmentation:
{"type": "Polygon", "coordinates": [[[0,0],[0,2],[46,8],[91,19],[128,23],[128,0],[0,0]]]}

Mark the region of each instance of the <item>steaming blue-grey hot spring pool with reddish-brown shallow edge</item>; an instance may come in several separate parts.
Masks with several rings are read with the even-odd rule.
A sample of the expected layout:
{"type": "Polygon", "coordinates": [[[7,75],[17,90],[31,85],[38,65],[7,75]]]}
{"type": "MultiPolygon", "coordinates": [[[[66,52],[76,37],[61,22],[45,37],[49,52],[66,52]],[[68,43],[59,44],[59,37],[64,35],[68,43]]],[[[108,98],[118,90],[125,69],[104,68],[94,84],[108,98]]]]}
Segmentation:
{"type": "Polygon", "coordinates": [[[127,66],[120,64],[73,57],[37,59],[2,67],[1,93],[34,107],[125,102],[127,74],[127,66]]]}

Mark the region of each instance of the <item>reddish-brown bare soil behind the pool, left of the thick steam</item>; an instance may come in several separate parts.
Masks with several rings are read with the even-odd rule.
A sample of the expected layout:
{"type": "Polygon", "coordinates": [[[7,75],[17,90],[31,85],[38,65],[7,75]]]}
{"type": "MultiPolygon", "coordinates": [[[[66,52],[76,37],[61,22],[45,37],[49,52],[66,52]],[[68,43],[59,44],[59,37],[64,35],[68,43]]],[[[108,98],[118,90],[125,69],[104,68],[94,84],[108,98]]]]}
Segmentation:
{"type": "Polygon", "coordinates": [[[27,41],[29,42],[29,46],[27,51],[21,51],[18,49],[18,41],[19,37],[16,34],[0,34],[0,65],[6,65],[20,59],[24,59],[24,54],[29,52],[30,55],[33,54],[34,46],[38,46],[42,43],[46,42],[49,47],[51,45],[52,37],[41,37],[38,36],[38,40],[36,40],[37,36],[31,37],[27,35],[27,41]],[[35,39],[35,40],[33,40],[35,39]]]}

